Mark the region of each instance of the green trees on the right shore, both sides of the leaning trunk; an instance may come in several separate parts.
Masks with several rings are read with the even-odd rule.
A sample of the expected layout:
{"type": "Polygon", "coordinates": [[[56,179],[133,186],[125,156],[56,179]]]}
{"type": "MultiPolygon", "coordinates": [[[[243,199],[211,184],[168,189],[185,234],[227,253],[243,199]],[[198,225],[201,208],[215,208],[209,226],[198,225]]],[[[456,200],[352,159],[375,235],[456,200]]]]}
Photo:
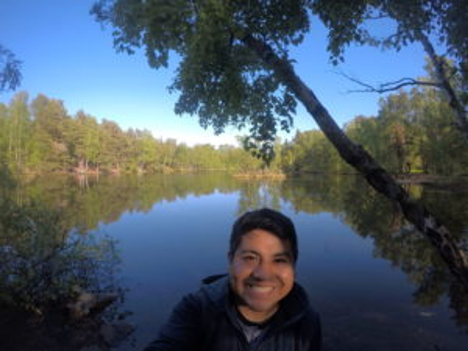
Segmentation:
{"type": "MultiPolygon", "coordinates": [[[[344,131],[394,174],[468,175],[468,142],[454,112],[434,88],[413,88],[380,99],[377,116],[357,116],[344,131]]],[[[287,171],[352,171],[321,131],[298,132],[282,150],[287,171]]]]}

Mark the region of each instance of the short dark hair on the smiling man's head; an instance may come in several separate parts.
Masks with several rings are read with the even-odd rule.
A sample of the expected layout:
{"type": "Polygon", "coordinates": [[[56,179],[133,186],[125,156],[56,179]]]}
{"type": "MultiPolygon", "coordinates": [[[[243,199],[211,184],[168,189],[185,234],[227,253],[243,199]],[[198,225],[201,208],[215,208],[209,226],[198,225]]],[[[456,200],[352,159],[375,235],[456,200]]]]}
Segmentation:
{"type": "Polygon", "coordinates": [[[234,255],[235,250],[239,247],[242,235],[254,229],[269,231],[280,240],[288,241],[291,245],[292,258],[294,262],[297,261],[297,236],[294,224],[283,213],[269,208],[246,212],[234,222],[231,239],[229,240],[230,257],[234,255]]]}

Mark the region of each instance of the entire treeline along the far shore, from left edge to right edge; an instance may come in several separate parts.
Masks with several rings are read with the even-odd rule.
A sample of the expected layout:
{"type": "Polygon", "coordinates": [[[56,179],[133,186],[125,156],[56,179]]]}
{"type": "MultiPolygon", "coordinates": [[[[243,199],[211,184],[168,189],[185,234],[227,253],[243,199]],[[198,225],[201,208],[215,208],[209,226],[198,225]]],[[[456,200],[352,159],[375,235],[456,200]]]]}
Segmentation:
{"type": "MultiPolygon", "coordinates": [[[[390,172],[434,175],[468,174],[468,143],[453,124],[453,110],[433,88],[399,91],[380,100],[377,116],[355,117],[345,132],[390,172]]],[[[16,94],[0,103],[0,161],[14,172],[76,171],[172,172],[263,169],[263,162],[242,147],[189,147],[151,132],[123,131],[113,121],[83,111],[68,115],[63,102],[16,94]]],[[[273,171],[348,173],[347,165],[318,130],[297,132],[275,146],[273,171]]]]}

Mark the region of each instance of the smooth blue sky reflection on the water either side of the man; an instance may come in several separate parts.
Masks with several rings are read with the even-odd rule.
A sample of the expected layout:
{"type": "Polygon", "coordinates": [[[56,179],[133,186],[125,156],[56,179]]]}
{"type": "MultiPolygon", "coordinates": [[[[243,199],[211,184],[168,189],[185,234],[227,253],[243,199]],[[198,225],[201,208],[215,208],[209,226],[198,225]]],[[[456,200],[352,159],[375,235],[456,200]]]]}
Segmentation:
{"type": "MultiPolygon", "coordinates": [[[[125,307],[134,312],[137,348],[157,335],[174,304],[196,290],[201,278],[226,271],[238,202],[239,193],[190,195],[102,227],[122,250],[124,285],[130,288],[125,307]]],[[[299,235],[298,281],[321,313],[332,344],[342,339],[354,340],[351,346],[360,350],[376,345],[430,350],[433,344],[464,350],[466,336],[454,330],[447,306],[412,305],[415,286],[391,263],[373,256],[372,240],[354,234],[333,214],[295,213],[290,204],[282,206],[299,235]]]]}

